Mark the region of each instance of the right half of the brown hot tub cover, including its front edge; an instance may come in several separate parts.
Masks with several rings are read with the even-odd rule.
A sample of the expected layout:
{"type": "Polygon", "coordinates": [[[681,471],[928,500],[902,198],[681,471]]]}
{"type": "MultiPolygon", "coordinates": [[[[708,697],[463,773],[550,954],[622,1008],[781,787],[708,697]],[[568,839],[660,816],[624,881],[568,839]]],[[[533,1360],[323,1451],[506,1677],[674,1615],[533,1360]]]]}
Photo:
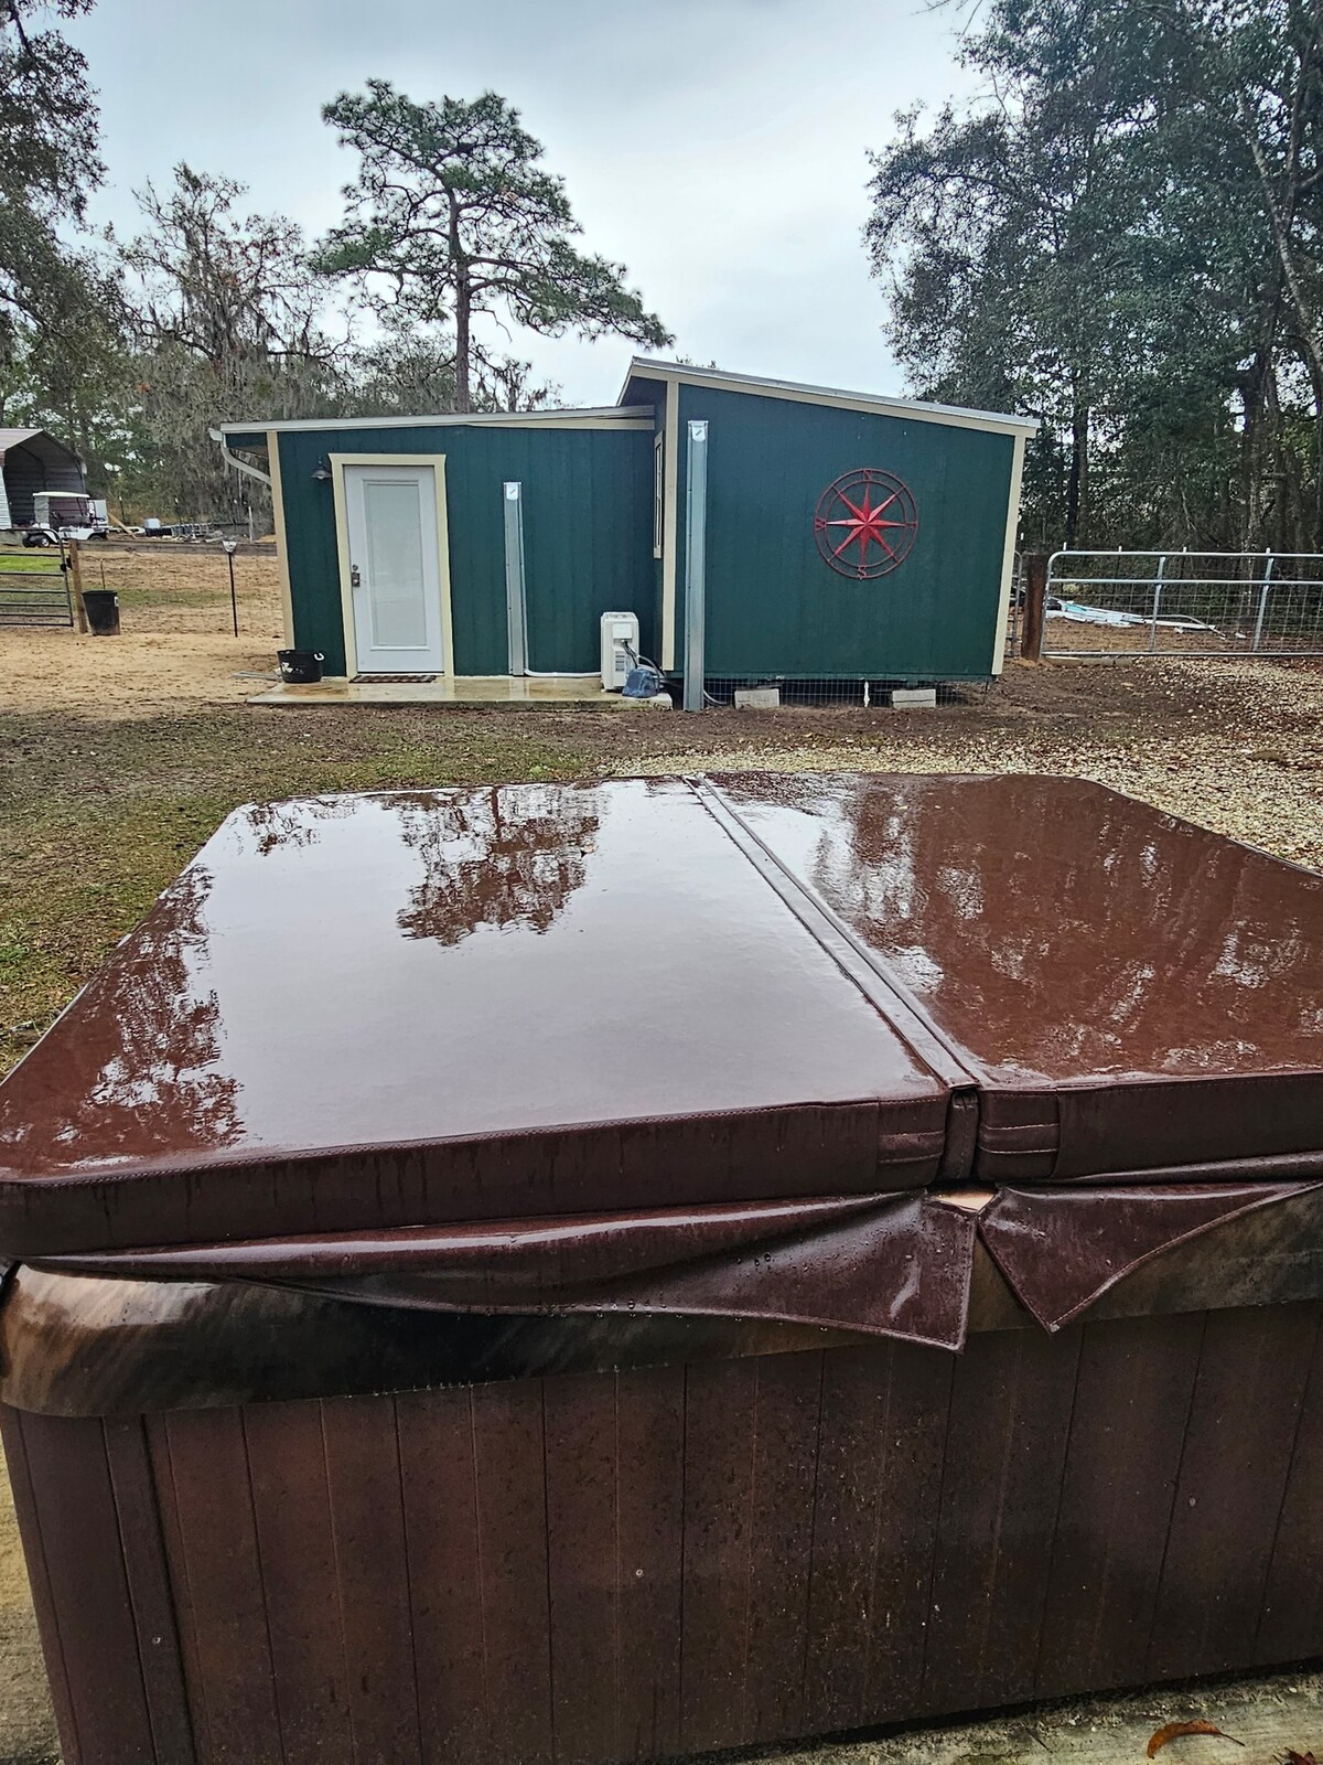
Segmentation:
{"type": "Polygon", "coordinates": [[[979,1179],[1323,1174],[1323,877],[1085,780],[711,789],[977,1085],[979,1179]]]}

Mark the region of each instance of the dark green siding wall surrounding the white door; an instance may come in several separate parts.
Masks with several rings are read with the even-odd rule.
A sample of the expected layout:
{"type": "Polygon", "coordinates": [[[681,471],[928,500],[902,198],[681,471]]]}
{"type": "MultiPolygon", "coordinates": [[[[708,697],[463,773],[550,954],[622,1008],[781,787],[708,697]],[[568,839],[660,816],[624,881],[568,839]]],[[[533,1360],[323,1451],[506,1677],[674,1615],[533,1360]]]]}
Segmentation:
{"type": "Polygon", "coordinates": [[[654,641],[653,438],[624,429],[321,429],[280,436],[295,641],[344,672],[335,508],[312,478],[328,454],[445,454],[457,674],[505,674],[503,484],[524,485],[529,667],[598,667],[603,612],[639,614],[654,641]]]}

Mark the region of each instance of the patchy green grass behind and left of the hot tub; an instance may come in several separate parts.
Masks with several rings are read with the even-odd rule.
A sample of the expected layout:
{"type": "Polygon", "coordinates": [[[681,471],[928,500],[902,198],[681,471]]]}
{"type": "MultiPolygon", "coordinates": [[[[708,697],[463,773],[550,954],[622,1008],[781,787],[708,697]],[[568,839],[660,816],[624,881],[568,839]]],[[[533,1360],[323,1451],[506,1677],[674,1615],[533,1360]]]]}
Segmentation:
{"type": "Polygon", "coordinates": [[[600,718],[575,720],[591,725],[586,740],[559,722],[219,710],[0,718],[0,1071],[238,803],[593,770],[600,718]]]}

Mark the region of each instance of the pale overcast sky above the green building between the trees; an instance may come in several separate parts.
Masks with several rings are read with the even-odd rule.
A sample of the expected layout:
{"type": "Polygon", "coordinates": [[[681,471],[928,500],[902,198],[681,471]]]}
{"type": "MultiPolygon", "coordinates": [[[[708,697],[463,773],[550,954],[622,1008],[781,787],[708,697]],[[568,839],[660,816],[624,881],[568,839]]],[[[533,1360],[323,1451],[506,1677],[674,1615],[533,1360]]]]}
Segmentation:
{"type": "MultiPolygon", "coordinates": [[[[369,76],[415,99],[492,86],[677,353],[900,392],[861,244],[866,150],[896,109],[968,90],[954,25],[924,0],[101,0],[64,28],[101,90],[99,222],[132,231],[134,187],[187,159],[318,233],[356,162],[326,99],[369,76]]],[[[568,402],[609,404],[630,344],[519,351],[568,402]]]]}

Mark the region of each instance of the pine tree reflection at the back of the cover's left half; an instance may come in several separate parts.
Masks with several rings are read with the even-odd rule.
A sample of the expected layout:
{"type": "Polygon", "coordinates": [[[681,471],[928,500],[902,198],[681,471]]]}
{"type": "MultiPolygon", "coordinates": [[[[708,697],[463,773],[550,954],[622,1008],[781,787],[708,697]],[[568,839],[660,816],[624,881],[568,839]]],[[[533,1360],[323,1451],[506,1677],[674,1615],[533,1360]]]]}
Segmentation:
{"type": "Polygon", "coordinates": [[[582,888],[598,817],[584,791],[519,785],[443,796],[377,798],[400,822],[400,838],[423,861],[423,881],[399,913],[406,937],[437,944],[489,925],[545,932],[582,888]]]}

